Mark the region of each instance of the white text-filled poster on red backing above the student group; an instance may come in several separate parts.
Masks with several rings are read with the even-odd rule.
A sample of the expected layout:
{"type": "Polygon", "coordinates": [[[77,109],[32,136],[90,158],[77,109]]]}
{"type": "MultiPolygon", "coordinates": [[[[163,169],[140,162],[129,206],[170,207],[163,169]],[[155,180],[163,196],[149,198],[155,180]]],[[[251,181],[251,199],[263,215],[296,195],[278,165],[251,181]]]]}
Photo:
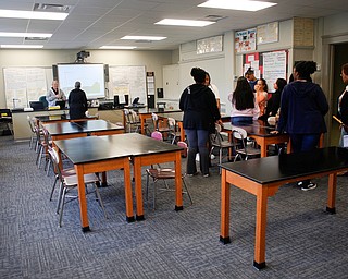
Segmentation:
{"type": "Polygon", "coordinates": [[[268,82],[269,92],[274,92],[273,84],[277,78],[286,80],[287,51],[262,53],[263,78],[268,82]]]}

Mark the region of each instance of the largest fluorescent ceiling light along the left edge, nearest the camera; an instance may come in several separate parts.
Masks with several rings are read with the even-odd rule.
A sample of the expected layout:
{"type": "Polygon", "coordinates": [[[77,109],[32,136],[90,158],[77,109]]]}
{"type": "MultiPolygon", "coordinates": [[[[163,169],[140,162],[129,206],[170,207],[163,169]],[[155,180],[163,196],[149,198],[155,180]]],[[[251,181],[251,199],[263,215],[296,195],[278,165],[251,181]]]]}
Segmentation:
{"type": "Polygon", "coordinates": [[[63,21],[69,13],[0,10],[0,17],[63,21]]]}

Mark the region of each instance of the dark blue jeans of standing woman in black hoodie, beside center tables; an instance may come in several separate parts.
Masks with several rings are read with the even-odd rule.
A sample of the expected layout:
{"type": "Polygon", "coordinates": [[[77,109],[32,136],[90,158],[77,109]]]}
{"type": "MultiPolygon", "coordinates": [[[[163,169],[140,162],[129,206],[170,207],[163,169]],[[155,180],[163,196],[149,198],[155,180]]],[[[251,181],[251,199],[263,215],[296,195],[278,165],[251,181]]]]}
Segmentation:
{"type": "Polygon", "coordinates": [[[199,151],[200,171],[202,174],[209,174],[209,150],[207,147],[209,131],[185,129],[185,133],[188,141],[186,173],[195,174],[197,172],[196,154],[199,151]]]}

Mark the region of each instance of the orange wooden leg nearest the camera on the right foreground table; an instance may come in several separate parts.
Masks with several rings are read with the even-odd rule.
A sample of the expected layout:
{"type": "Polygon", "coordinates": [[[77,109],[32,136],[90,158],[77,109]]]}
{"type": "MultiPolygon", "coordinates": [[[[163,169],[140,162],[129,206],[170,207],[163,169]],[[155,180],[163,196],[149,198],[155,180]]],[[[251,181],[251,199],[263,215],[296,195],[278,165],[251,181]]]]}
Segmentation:
{"type": "Polygon", "coordinates": [[[268,187],[259,185],[257,194],[257,222],[254,238],[254,260],[257,269],[265,267],[265,228],[268,211],[268,187]]]}

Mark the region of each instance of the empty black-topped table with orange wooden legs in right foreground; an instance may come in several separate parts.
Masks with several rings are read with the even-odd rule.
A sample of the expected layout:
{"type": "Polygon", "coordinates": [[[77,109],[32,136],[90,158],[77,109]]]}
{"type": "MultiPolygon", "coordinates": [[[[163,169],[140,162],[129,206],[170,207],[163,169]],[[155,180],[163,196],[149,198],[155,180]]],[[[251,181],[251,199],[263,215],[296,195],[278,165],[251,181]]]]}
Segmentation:
{"type": "Polygon", "coordinates": [[[279,186],[328,175],[326,211],[334,214],[337,172],[348,169],[348,149],[326,147],[308,153],[284,154],[265,158],[222,163],[220,240],[229,243],[229,186],[235,185],[257,196],[253,266],[265,267],[268,197],[279,186]]]}

